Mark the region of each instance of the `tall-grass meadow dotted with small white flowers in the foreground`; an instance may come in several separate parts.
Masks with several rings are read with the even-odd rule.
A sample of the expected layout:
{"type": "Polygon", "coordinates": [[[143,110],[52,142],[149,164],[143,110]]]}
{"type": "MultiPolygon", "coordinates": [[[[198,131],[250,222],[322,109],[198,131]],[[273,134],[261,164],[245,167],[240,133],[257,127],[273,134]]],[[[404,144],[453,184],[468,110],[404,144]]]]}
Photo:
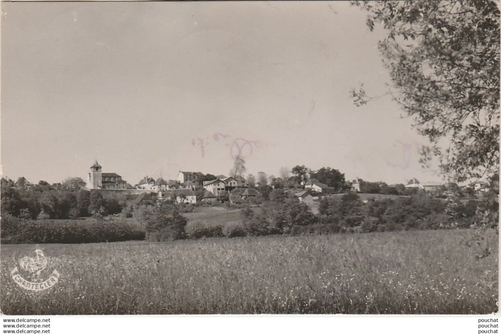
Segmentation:
{"type": "Polygon", "coordinates": [[[497,235],[470,244],[474,233],[2,245],[0,307],[6,314],[495,312],[497,235]],[[479,258],[486,246],[490,254],[479,258]],[[44,272],[61,274],[42,292],[10,277],[36,248],[49,258],[44,272]]]}

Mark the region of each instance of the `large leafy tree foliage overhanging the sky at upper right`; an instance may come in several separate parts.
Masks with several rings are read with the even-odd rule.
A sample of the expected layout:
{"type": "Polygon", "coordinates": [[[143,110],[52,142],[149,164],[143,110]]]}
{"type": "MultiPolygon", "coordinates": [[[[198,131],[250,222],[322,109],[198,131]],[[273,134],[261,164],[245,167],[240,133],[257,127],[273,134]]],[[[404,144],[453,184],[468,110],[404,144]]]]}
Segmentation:
{"type": "MultiPolygon", "coordinates": [[[[367,25],[388,32],[379,41],[393,87],[433,156],[456,181],[499,170],[499,8],[492,0],[352,1],[367,25]]],[[[357,105],[369,97],[352,90],[357,105]]]]}

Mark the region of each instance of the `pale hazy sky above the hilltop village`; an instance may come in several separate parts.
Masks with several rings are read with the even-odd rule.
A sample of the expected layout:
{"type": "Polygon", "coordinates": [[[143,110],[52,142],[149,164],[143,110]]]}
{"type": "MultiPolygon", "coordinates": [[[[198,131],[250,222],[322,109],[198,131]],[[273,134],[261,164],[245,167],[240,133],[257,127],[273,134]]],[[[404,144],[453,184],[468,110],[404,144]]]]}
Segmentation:
{"type": "Polygon", "coordinates": [[[441,180],[390,97],[365,13],[347,2],[3,2],[2,168],[60,182],[94,160],[131,184],[178,170],[329,166],[441,180]]]}

